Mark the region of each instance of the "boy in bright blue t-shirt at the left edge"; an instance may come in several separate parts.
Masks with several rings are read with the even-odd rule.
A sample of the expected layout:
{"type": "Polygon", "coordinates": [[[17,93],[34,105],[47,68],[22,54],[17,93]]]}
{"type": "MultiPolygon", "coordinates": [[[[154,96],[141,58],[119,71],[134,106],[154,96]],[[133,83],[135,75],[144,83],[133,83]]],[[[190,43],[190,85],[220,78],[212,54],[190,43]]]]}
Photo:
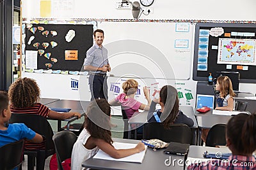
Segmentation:
{"type": "Polygon", "coordinates": [[[0,91],[0,147],[23,138],[34,143],[43,141],[40,134],[32,131],[25,124],[9,124],[5,127],[4,124],[9,122],[11,115],[8,94],[0,91]]]}

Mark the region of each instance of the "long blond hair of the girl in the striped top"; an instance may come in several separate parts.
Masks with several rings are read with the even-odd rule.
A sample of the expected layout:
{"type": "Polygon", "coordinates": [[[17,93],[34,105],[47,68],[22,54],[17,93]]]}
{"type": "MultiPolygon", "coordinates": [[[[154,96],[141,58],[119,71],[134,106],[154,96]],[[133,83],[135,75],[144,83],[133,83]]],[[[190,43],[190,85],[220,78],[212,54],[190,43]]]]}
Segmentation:
{"type": "Polygon", "coordinates": [[[236,94],[233,91],[232,81],[228,76],[219,76],[217,78],[218,83],[220,84],[220,94],[225,97],[230,95],[230,97],[235,97],[236,94]]]}

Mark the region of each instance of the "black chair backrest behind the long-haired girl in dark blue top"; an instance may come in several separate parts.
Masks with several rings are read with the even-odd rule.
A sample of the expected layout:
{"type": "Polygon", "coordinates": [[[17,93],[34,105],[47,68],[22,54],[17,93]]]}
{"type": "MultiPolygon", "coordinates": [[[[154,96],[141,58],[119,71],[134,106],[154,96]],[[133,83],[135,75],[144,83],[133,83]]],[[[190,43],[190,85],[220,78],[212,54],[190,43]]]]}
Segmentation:
{"type": "Polygon", "coordinates": [[[172,124],[169,129],[165,129],[163,123],[152,122],[144,124],[143,139],[160,139],[166,143],[172,141],[192,144],[193,134],[188,125],[185,124],[172,124]]]}

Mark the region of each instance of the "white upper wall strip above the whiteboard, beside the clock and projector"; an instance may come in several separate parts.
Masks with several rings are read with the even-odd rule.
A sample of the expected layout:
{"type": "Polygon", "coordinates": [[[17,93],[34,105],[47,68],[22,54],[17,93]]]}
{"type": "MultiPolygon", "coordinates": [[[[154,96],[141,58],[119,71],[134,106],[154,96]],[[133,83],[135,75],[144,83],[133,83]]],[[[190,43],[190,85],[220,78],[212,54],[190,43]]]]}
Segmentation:
{"type": "MultiPolygon", "coordinates": [[[[51,1],[51,0],[49,0],[51,1]]],[[[52,0],[58,1],[58,0],[52,0]]],[[[70,0],[74,1],[72,18],[132,18],[129,10],[116,10],[115,3],[121,0],[70,0]]],[[[131,0],[133,2],[133,0],[131,0]]],[[[61,3],[61,1],[59,1],[61,3]]],[[[66,1],[68,2],[68,1],[66,1]]],[[[155,0],[150,8],[154,13],[144,19],[180,19],[180,20],[255,20],[256,1],[254,0],[155,0]],[[241,10],[243,8],[243,10],[241,10]]],[[[143,6],[142,6],[143,7],[143,6]]],[[[61,17],[60,10],[56,17],[61,17]]],[[[22,0],[22,17],[40,17],[40,0],[22,0]]]]}

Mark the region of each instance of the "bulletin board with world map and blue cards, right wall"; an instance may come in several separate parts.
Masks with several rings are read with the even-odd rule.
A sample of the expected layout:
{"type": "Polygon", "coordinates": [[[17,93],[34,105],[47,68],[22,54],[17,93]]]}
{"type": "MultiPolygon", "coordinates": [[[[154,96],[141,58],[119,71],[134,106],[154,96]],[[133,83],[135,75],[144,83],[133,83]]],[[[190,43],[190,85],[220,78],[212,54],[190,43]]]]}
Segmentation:
{"type": "Polygon", "coordinates": [[[255,83],[255,41],[255,24],[196,24],[193,80],[207,81],[216,71],[235,71],[240,82],[255,83]]]}

